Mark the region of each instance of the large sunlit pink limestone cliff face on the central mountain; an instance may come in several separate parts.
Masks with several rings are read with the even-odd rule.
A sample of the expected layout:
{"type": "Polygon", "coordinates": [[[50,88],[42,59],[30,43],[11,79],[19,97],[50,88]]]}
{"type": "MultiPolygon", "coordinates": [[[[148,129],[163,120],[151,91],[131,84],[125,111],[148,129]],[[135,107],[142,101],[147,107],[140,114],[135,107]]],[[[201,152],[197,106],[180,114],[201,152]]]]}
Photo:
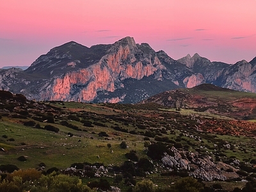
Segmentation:
{"type": "MultiPolygon", "coordinates": [[[[115,92],[116,89],[124,87],[122,81],[125,79],[140,80],[143,77],[153,75],[161,68],[161,62],[155,52],[143,60],[138,60],[135,54],[140,52],[139,46],[135,44],[133,38],[126,38],[117,42],[109,50],[111,53],[103,56],[99,62],[88,68],[56,77],[53,85],[49,86],[46,93],[42,94],[43,99],[90,102],[97,97],[99,91],[115,92]],[[74,86],[79,87],[77,93],[74,93],[74,86]]],[[[124,96],[113,97],[106,99],[106,101],[120,102],[123,98],[124,96]]]]}

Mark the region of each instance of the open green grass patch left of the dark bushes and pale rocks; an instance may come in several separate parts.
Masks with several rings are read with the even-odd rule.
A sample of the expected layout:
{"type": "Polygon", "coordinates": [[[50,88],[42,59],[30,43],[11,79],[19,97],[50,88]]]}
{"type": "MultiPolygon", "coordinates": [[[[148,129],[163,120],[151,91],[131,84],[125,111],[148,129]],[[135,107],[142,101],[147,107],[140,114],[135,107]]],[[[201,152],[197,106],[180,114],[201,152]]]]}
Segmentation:
{"type": "MultiPolygon", "coordinates": [[[[36,168],[42,162],[47,168],[67,168],[72,163],[83,162],[120,166],[127,160],[124,155],[129,150],[136,150],[138,156],[146,157],[143,141],[138,141],[136,136],[131,134],[122,133],[113,140],[104,140],[97,134],[74,131],[61,125],[57,126],[60,128],[58,133],[5,121],[0,122],[0,127],[0,136],[8,136],[6,139],[0,139],[0,147],[7,151],[0,152],[1,164],[15,164],[19,168],[36,168]],[[71,131],[74,136],[68,137],[67,131],[71,131]],[[10,138],[14,141],[8,141],[10,138]],[[121,138],[124,138],[129,149],[120,148],[121,138]],[[108,143],[111,148],[107,147],[108,143]],[[26,156],[28,160],[20,162],[17,159],[20,156],[26,156]]],[[[93,130],[109,131],[104,127],[95,127],[93,130]]]]}

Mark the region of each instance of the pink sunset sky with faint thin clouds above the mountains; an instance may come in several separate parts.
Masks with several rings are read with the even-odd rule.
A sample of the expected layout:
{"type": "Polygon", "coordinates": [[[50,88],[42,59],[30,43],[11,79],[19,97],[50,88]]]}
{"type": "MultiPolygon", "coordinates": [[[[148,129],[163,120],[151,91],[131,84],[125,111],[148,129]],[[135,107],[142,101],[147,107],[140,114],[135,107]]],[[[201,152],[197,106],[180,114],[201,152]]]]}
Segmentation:
{"type": "Polygon", "coordinates": [[[31,65],[71,40],[90,47],[125,36],[175,60],[196,52],[225,63],[256,56],[256,0],[8,0],[0,7],[0,68],[31,65]]]}

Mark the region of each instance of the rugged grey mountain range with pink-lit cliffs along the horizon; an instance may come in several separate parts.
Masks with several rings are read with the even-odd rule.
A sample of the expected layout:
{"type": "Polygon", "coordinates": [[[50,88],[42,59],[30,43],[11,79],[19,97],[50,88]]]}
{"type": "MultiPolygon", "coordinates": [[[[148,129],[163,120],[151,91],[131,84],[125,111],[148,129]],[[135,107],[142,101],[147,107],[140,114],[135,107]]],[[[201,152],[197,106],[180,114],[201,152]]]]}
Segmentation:
{"type": "Polygon", "coordinates": [[[54,47],[26,70],[0,69],[0,88],[28,99],[136,103],[176,88],[209,83],[256,92],[256,57],[234,65],[198,54],[173,60],[125,37],[110,45],[54,47]]]}

